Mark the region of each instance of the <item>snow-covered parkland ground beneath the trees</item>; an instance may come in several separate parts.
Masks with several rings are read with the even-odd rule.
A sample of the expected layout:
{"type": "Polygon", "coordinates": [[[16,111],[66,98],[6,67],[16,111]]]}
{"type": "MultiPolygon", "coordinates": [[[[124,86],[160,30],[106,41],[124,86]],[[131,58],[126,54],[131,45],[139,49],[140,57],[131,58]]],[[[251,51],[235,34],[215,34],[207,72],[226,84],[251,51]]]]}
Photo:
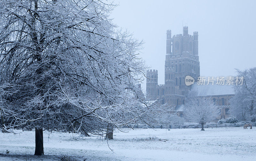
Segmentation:
{"type": "Polygon", "coordinates": [[[16,132],[0,133],[0,160],[256,160],[255,127],[124,129],[108,144],[97,136],[46,131],[45,156],[33,156],[34,131],[16,132]]]}

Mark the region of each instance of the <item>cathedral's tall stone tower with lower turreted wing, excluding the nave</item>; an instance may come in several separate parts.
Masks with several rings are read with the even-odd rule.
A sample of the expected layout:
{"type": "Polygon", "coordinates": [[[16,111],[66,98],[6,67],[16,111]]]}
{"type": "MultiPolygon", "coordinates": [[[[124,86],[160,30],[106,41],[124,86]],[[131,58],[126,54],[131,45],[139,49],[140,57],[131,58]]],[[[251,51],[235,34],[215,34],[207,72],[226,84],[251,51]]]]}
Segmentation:
{"type": "Polygon", "coordinates": [[[150,100],[161,100],[171,107],[184,104],[185,95],[190,87],[185,85],[185,77],[190,75],[195,80],[200,76],[198,56],[198,32],[188,34],[188,27],[183,27],[183,34],[172,36],[166,33],[165,81],[157,83],[157,70],[147,71],[146,90],[150,100]]]}

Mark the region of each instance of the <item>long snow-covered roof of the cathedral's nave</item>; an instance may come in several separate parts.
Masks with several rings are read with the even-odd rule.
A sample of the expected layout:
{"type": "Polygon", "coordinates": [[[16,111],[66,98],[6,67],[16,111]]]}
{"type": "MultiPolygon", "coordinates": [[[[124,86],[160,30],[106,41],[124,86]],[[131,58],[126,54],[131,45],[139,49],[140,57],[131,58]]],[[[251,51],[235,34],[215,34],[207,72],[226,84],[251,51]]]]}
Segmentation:
{"type": "Polygon", "coordinates": [[[210,95],[229,95],[229,94],[235,94],[235,90],[233,88],[233,85],[218,85],[209,83],[209,85],[206,85],[207,82],[205,82],[205,85],[197,85],[197,83],[194,83],[191,88],[191,90],[195,90],[198,93],[198,96],[210,96],[210,95]]]}

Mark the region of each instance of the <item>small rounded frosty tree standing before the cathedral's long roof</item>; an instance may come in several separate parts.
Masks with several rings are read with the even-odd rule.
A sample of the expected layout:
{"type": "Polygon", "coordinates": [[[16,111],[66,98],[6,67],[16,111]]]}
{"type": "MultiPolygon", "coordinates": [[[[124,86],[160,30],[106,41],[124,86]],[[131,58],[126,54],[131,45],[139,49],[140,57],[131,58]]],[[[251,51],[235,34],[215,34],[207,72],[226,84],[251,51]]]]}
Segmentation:
{"type": "Polygon", "coordinates": [[[197,96],[196,91],[191,91],[185,102],[185,117],[192,122],[198,122],[202,125],[206,122],[215,120],[220,115],[219,110],[211,97],[197,96]]]}

